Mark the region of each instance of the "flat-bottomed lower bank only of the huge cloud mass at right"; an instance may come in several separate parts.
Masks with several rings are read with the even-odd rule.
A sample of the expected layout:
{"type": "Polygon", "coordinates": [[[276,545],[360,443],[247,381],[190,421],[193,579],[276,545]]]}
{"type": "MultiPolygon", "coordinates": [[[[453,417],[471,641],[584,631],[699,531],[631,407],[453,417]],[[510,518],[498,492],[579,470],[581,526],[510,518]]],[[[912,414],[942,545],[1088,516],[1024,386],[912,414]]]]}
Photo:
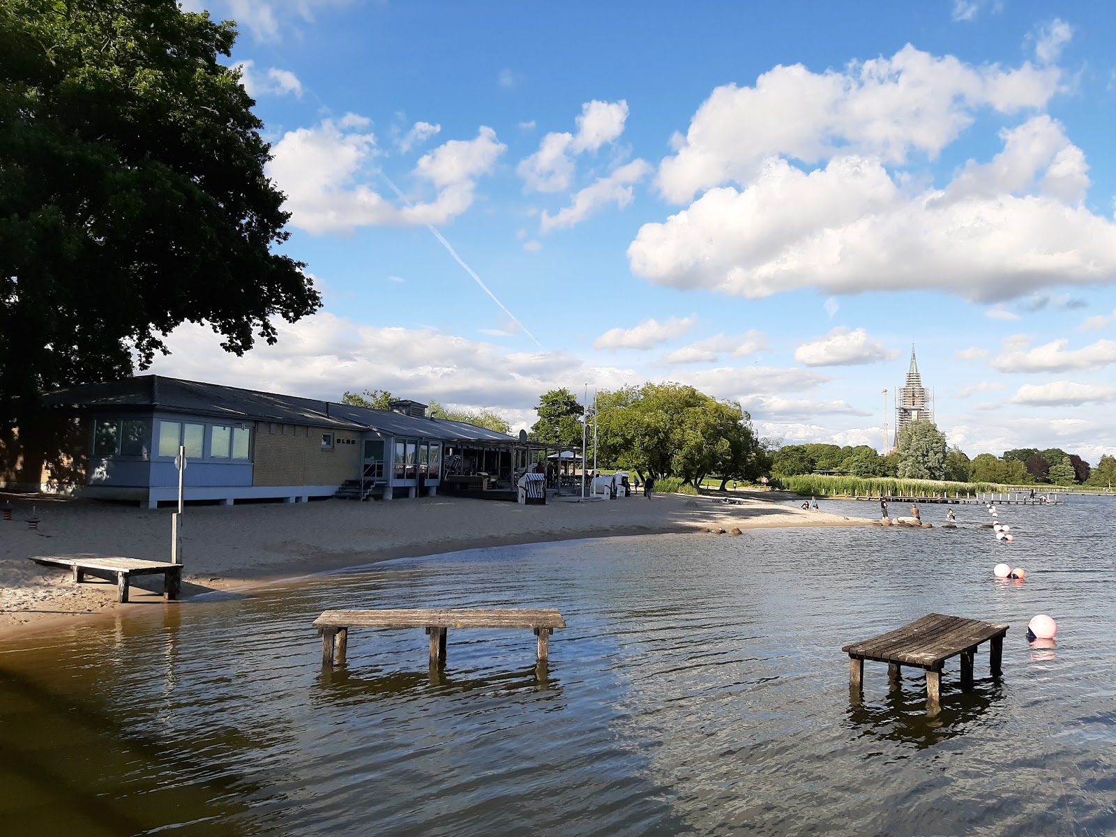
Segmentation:
{"type": "Polygon", "coordinates": [[[841,156],[809,173],[770,160],[743,191],[712,189],[644,224],[628,261],[654,285],[751,299],[929,288],[997,301],[1116,280],[1116,223],[1036,180],[1036,194],[951,196],[912,193],[876,160],[841,156]]]}

